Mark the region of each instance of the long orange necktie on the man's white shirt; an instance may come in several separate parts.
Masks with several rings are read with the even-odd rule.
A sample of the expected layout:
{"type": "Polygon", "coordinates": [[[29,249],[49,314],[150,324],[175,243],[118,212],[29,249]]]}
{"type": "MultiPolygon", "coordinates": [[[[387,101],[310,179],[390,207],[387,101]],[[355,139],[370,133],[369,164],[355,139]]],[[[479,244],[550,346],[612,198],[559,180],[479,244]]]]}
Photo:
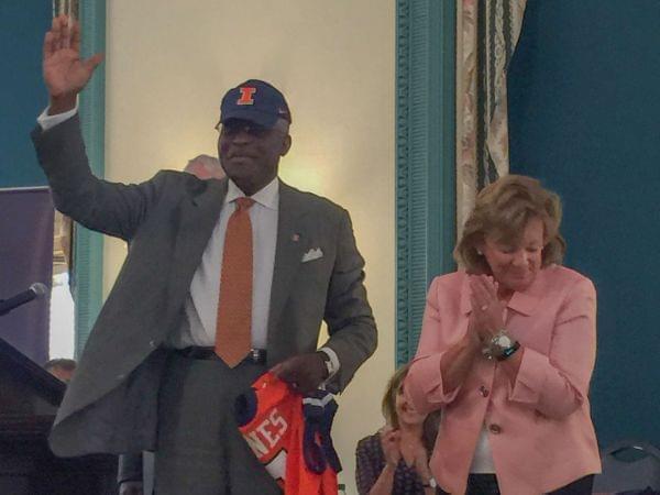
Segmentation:
{"type": "Polygon", "coordinates": [[[252,343],[252,222],[251,198],[238,198],[224,234],[220,300],[216,323],[216,354],[234,367],[252,343]]]}

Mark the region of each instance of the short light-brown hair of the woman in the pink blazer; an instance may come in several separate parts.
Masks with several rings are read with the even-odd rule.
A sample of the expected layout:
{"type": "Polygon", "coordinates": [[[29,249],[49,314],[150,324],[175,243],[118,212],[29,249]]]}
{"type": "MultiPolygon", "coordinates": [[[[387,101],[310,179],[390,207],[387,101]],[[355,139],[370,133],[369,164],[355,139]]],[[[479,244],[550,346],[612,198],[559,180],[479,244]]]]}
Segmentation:
{"type": "Polygon", "coordinates": [[[491,267],[477,251],[486,235],[498,242],[516,244],[530,219],[543,222],[542,266],[561,264],[566,243],[559,232],[561,200],[524,175],[506,175],[484,187],[476,196],[472,213],[454,250],[454,258],[469,273],[490,273],[491,267]]]}

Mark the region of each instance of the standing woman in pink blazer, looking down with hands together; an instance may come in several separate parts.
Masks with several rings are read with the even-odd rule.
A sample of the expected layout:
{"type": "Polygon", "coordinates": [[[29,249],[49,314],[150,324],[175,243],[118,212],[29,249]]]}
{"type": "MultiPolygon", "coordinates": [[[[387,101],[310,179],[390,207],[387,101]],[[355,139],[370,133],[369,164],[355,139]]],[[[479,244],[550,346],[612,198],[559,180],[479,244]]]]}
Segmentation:
{"type": "Polygon", "coordinates": [[[406,393],[442,408],[431,471],[451,494],[591,494],[592,282],[560,266],[559,197],[529,177],[484,188],[428,292],[406,393]]]}

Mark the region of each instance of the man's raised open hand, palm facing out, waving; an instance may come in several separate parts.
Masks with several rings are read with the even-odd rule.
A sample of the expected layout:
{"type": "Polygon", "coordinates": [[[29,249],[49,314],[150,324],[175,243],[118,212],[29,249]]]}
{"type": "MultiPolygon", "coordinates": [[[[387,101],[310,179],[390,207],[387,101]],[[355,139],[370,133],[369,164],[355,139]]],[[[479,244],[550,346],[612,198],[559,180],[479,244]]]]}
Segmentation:
{"type": "Polygon", "coordinates": [[[80,25],[66,15],[53,19],[43,51],[44,81],[51,96],[51,113],[75,106],[76,96],[85,88],[103,56],[80,58],[80,25]],[[53,107],[56,110],[53,111],[53,107]]]}

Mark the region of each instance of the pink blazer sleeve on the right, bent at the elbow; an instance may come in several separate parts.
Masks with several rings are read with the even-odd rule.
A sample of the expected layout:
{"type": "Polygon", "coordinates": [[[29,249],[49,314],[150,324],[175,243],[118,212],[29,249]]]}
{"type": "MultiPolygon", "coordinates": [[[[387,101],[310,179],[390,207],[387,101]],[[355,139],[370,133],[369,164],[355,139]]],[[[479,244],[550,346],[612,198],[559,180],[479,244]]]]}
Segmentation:
{"type": "Polygon", "coordinates": [[[562,419],[584,402],[595,360],[596,290],[582,278],[557,315],[549,354],[525,349],[509,400],[562,419]]]}

